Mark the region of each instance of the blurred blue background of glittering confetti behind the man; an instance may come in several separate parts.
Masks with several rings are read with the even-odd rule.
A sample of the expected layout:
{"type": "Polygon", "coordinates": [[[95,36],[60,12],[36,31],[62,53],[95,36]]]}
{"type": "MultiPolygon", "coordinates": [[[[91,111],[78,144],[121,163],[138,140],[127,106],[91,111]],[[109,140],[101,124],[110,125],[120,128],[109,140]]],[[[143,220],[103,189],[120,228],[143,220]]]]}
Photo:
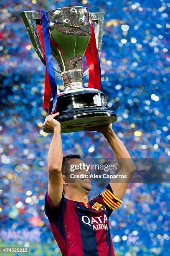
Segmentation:
{"type": "MultiPolygon", "coordinates": [[[[105,12],[101,80],[108,106],[118,116],[114,131],[133,158],[170,156],[170,3],[137,1],[0,1],[0,246],[30,246],[31,255],[60,255],[43,206],[52,137],[42,128],[45,67],[21,11],[85,6],[105,12]]],[[[62,91],[59,77],[57,83],[62,91]]],[[[62,140],[64,155],[114,157],[99,133],[66,133],[62,140]]],[[[122,207],[110,217],[117,256],[170,255],[169,188],[129,184],[122,207]]],[[[102,189],[94,184],[90,198],[102,189]]]]}

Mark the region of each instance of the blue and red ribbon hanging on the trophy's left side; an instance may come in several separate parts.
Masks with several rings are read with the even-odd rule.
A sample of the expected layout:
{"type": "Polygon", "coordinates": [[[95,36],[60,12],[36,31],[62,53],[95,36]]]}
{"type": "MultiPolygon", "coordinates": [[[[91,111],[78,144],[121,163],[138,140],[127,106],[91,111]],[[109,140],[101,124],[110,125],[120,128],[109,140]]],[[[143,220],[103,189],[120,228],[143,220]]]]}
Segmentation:
{"type": "Polygon", "coordinates": [[[36,20],[38,35],[40,38],[41,46],[43,48],[43,59],[46,61],[46,75],[45,75],[45,88],[43,110],[45,108],[50,111],[50,98],[53,97],[53,108],[50,114],[55,113],[57,103],[57,85],[54,68],[52,64],[49,24],[48,17],[44,11],[40,11],[40,20],[36,20]]]}

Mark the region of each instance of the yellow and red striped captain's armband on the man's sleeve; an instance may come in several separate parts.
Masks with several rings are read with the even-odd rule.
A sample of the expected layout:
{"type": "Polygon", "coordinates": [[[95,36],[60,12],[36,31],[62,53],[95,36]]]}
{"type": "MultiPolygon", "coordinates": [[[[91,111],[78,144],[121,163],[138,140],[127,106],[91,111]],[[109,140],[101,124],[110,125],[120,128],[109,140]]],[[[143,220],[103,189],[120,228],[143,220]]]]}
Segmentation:
{"type": "Polygon", "coordinates": [[[108,205],[112,210],[116,210],[120,205],[122,205],[122,201],[115,197],[109,189],[104,189],[104,192],[100,195],[103,198],[105,204],[108,205]]]}

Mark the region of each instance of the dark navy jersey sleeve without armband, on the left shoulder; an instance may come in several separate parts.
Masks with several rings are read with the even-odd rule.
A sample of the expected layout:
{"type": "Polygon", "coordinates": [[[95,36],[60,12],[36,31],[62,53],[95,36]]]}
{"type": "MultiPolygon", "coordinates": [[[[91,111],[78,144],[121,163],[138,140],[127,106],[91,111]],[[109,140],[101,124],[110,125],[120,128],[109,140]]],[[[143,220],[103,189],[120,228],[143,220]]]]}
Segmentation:
{"type": "Polygon", "coordinates": [[[58,203],[58,205],[53,205],[48,195],[48,191],[46,192],[44,212],[45,212],[45,215],[48,217],[48,220],[53,222],[56,218],[58,218],[58,215],[63,215],[63,211],[65,208],[66,208],[66,198],[64,197],[63,193],[62,193],[61,201],[58,203]]]}

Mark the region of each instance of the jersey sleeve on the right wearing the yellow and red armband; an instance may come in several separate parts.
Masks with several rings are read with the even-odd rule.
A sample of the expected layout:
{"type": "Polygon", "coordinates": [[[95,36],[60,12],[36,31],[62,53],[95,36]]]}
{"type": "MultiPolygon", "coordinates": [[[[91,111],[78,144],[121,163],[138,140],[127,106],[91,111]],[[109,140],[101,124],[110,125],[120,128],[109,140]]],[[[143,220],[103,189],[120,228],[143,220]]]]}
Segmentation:
{"type": "Polygon", "coordinates": [[[104,201],[105,207],[107,207],[109,216],[113,210],[116,210],[120,205],[122,205],[122,201],[115,197],[113,194],[110,184],[107,185],[107,187],[104,189],[104,192],[102,192],[100,196],[104,201]]]}

